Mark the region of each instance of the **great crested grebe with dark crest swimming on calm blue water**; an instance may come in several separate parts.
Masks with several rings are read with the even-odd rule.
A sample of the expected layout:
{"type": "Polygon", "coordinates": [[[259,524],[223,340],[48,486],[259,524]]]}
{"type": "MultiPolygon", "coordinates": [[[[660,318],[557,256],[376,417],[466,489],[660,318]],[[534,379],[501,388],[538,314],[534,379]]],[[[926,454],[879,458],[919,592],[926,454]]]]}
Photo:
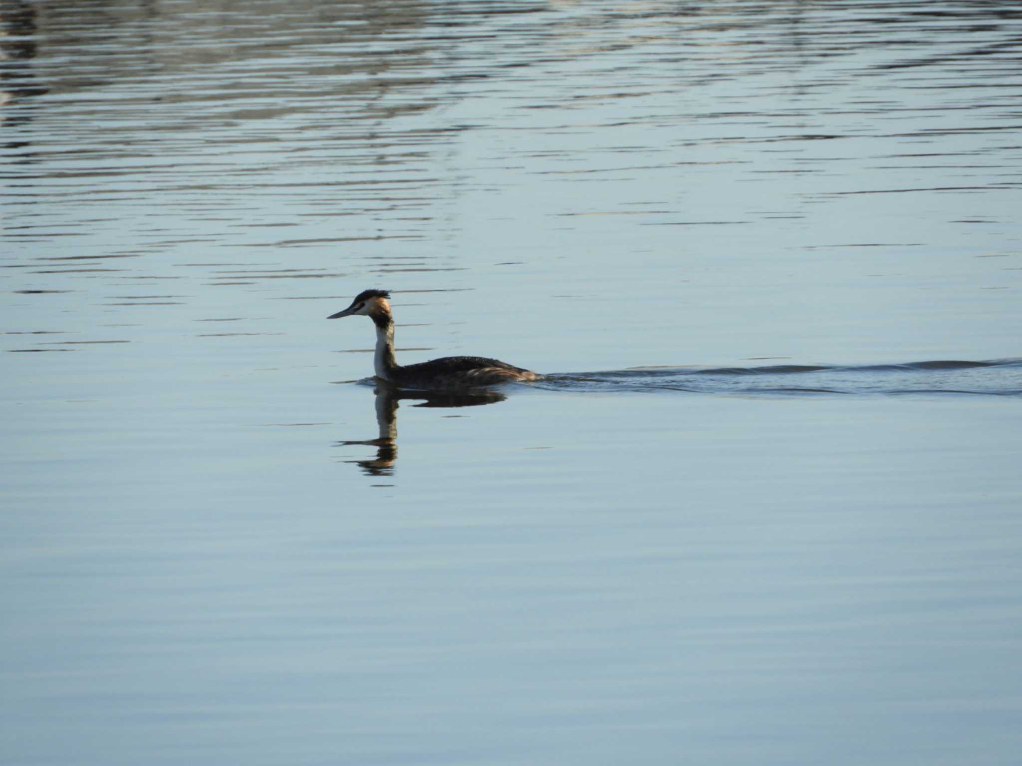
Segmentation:
{"type": "Polygon", "coordinates": [[[402,366],[393,357],[393,317],[386,290],[363,290],[352,305],[327,319],[365,316],[376,325],[373,370],[377,378],[397,386],[424,389],[471,388],[512,380],[537,380],[540,375],[506,362],[482,356],[444,356],[418,365],[402,366]]]}

